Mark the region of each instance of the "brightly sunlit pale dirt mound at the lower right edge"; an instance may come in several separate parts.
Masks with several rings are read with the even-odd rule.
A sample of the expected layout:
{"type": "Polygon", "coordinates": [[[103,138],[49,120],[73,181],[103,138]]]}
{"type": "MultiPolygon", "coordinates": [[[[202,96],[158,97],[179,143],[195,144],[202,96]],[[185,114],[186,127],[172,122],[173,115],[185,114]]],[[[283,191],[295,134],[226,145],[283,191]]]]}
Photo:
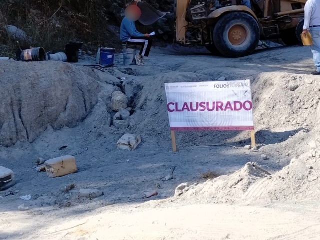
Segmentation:
{"type": "Polygon", "coordinates": [[[320,139],[312,140],[306,152],[269,178],[254,183],[245,193],[248,202],[318,199],[320,191],[320,139]]]}

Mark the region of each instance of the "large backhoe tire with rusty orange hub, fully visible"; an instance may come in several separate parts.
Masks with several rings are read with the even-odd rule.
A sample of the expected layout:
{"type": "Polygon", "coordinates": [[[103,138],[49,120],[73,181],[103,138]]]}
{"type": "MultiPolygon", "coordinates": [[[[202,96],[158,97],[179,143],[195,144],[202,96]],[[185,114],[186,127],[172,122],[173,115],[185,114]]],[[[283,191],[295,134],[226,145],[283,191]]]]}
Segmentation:
{"type": "Polygon", "coordinates": [[[222,16],[213,29],[213,42],[226,57],[249,55],[259,42],[257,21],[245,12],[230,12],[222,16]]]}

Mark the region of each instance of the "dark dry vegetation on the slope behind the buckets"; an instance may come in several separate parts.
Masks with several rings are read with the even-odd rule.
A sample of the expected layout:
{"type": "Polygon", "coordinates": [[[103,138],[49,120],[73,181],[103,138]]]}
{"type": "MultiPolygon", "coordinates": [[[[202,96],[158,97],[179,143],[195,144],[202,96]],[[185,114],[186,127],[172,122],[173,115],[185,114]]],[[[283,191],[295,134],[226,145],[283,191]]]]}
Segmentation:
{"type": "MultiPolygon", "coordinates": [[[[120,46],[118,26],[128,0],[1,0],[0,55],[14,55],[17,43],[2,26],[14,25],[27,33],[31,42],[21,46],[42,46],[63,50],[69,40],[90,46],[120,46]]],[[[153,4],[152,1],[148,1],[153,4]]],[[[170,0],[162,1],[170,8],[170,0]]],[[[162,4],[154,3],[155,7],[162,4]]],[[[159,6],[160,5],[160,6],[159,6]]],[[[142,26],[144,30],[145,26],[142,26]]],[[[140,30],[141,26],[140,26],[140,30]]],[[[85,48],[85,47],[84,47],[85,48]]],[[[89,49],[94,50],[94,49],[89,49]]]]}

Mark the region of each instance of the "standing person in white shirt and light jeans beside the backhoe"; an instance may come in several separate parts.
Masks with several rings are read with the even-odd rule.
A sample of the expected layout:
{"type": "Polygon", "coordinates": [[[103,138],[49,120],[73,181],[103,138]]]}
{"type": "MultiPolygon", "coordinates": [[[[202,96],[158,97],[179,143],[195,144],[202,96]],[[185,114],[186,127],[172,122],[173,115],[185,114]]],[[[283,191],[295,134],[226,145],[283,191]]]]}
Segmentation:
{"type": "Polygon", "coordinates": [[[313,44],[311,52],[316,70],[312,75],[320,75],[320,0],[307,0],[304,5],[304,24],[302,34],[310,31],[313,44]]]}

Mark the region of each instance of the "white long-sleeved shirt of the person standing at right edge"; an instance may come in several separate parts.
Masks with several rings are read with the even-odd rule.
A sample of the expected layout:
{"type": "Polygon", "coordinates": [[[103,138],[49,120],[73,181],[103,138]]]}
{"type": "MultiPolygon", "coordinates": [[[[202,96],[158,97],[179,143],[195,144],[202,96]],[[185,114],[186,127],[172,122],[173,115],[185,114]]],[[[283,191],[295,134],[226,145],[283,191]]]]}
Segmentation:
{"type": "Polygon", "coordinates": [[[304,5],[303,29],[320,25],[320,0],[307,0],[304,5]]]}

